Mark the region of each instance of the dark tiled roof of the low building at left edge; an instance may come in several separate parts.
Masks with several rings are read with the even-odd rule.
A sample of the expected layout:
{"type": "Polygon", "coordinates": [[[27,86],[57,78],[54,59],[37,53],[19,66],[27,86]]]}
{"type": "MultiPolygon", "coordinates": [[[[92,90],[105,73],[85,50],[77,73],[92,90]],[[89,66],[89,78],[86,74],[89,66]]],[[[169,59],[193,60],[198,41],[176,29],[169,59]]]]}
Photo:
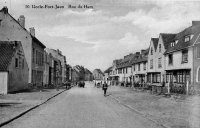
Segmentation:
{"type": "Polygon", "coordinates": [[[16,52],[16,41],[0,41],[0,71],[7,71],[16,52]]]}

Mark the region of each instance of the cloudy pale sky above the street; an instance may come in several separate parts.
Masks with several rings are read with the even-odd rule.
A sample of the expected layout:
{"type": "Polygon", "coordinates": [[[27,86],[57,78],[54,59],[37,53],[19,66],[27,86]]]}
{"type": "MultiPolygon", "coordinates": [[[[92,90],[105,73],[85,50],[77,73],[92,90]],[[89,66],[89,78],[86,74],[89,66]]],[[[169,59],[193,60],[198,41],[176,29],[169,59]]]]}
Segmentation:
{"type": "Polygon", "coordinates": [[[200,20],[200,1],[171,0],[0,0],[47,47],[60,49],[67,63],[105,70],[114,59],[146,49],[159,33],[176,33],[200,20]],[[25,5],[61,5],[33,9],[25,5]],[[68,5],[93,6],[70,9],[68,5]]]}

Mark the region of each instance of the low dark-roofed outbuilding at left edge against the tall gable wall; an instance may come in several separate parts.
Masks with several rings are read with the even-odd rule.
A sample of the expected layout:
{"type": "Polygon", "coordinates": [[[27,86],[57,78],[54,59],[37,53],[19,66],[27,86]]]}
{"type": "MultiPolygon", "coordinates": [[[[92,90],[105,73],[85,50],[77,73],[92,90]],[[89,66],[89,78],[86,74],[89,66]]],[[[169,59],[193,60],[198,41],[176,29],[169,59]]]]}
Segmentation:
{"type": "Polygon", "coordinates": [[[27,88],[28,70],[21,42],[0,41],[0,94],[27,88]]]}

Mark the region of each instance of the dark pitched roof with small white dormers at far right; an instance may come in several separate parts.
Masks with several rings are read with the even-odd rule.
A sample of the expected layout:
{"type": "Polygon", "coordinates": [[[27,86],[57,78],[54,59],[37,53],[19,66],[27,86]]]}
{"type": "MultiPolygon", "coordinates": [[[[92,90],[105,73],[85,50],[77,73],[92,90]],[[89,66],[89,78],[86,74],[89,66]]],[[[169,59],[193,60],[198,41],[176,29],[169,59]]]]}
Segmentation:
{"type": "Polygon", "coordinates": [[[174,51],[179,51],[184,48],[188,48],[189,46],[192,46],[195,43],[196,39],[198,38],[199,34],[200,34],[200,25],[190,26],[184,29],[182,32],[179,32],[173,40],[173,41],[178,40],[177,44],[175,44],[174,46],[168,45],[168,49],[165,51],[165,54],[174,51]],[[193,35],[193,37],[190,41],[185,42],[185,36],[188,35],[193,35]]]}

